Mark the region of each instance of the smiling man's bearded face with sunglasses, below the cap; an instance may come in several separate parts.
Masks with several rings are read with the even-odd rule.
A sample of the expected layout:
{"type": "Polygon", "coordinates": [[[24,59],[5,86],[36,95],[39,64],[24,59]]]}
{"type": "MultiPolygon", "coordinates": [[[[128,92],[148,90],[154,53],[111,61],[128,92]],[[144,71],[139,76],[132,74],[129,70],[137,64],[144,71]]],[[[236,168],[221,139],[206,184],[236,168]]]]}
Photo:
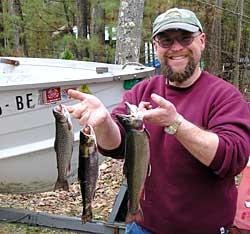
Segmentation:
{"type": "Polygon", "coordinates": [[[168,30],[154,38],[162,73],[170,81],[182,83],[197,70],[205,47],[205,34],[168,30]]]}

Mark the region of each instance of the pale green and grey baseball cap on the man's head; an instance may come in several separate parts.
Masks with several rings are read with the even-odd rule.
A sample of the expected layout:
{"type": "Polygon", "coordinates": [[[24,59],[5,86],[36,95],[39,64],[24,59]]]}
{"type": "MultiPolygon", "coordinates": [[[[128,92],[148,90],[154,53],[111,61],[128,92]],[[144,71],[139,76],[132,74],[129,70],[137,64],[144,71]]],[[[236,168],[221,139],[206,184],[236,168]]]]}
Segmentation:
{"type": "Polygon", "coordinates": [[[203,32],[196,15],[187,9],[171,8],[160,14],[154,21],[152,38],[169,29],[182,29],[189,32],[203,32]]]}

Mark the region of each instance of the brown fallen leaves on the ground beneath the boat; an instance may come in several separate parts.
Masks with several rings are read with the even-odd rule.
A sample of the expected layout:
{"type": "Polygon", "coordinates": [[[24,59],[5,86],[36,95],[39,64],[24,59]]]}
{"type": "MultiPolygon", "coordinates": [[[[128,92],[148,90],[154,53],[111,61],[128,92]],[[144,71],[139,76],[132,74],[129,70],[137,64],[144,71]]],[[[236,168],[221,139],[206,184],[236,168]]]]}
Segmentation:
{"type": "MultiPolygon", "coordinates": [[[[111,158],[99,166],[99,178],[92,204],[95,220],[107,221],[122,183],[122,168],[123,160],[111,158]]],[[[0,206],[80,217],[82,212],[80,185],[78,182],[71,184],[69,192],[59,190],[32,194],[0,194],[0,206]]]]}

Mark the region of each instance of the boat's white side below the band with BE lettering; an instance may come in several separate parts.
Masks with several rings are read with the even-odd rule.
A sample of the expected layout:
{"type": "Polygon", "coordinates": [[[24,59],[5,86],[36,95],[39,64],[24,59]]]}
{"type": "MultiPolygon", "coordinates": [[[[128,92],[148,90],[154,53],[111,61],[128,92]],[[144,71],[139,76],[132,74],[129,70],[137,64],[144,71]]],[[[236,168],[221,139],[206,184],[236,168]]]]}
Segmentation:
{"type": "MultiPolygon", "coordinates": [[[[120,95],[124,92],[122,82],[116,82],[113,85],[90,84],[88,88],[94,95],[104,100],[109,110],[118,103],[120,95]],[[110,93],[116,93],[111,100],[106,100],[105,86],[109,87],[110,93]]],[[[72,105],[75,101],[68,99],[63,103],[72,105]]],[[[53,190],[57,180],[54,150],[55,120],[52,114],[54,105],[56,104],[41,105],[1,119],[0,193],[53,190]]],[[[78,168],[78,134],[81,126],[74,119],[73,128],[75,140],[71,171],[68,175],[69,183],[76,181],[78,168]]]]}

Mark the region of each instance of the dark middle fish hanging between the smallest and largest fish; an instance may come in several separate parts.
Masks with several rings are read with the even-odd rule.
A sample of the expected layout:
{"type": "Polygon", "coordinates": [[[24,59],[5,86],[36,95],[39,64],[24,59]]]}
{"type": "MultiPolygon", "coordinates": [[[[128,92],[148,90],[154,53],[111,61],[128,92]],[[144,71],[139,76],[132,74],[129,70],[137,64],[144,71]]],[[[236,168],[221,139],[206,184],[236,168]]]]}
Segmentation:
{"type": "Polygon", "coordinates": [[[90,222],[93,218],[92,202],[99,173],[98,158],[99,153],[94,129],[91,125],[86,125],[80,131],[78,164],[78,181],[83,206],[81,220],[83,223],[90,222]]]}

